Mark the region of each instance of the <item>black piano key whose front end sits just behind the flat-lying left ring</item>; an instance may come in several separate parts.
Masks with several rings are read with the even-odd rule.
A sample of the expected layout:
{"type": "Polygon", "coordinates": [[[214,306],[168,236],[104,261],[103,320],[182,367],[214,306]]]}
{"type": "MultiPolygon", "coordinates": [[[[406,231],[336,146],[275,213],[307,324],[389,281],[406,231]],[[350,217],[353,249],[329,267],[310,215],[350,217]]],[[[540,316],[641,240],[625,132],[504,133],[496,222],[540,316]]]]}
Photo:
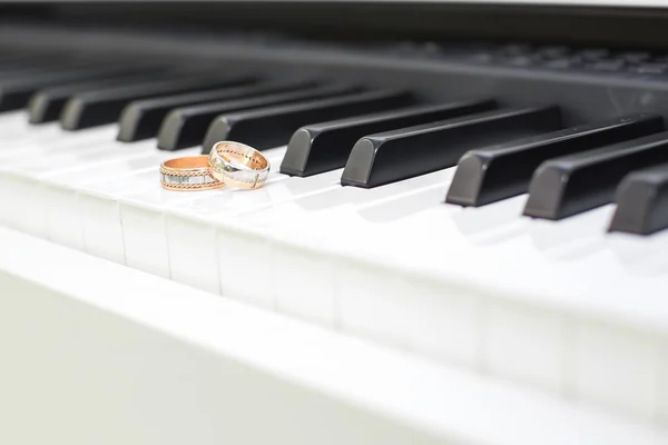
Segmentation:
{"type": "MultiPolygon", "coordinates": [[[[207,134],[207,128],[209,128],[212,120],[226,112],[338,96],[355,90],[357,90],[357,87],[348,85],[311,86],[294,91],[177,108],[167,115],[160,126],[160,131],[158,132],[158,148],[163,150],[178,150],[180,148],[200,145],[207,134]]],[[[216,142],[218,140],[216,140],[216,142]]],[[[208,151],[209,150],[207,149],[206,152],[208,151]]]]}

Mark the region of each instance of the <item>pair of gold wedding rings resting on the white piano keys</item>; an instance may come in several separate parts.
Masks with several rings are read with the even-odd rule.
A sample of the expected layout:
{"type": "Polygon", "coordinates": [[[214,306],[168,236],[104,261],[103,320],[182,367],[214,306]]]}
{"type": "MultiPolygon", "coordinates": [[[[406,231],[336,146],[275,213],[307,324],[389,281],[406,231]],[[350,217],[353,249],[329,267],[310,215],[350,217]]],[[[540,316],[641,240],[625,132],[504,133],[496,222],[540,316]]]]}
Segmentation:
{"type": "Polygon", "coordinates": [[[222,141],[208,156],[163,162],[160,184],[175,191],[212,190],[223,186],[256,189],[266,182],[269,167],[269,161],[253,147],[222,141]]]}

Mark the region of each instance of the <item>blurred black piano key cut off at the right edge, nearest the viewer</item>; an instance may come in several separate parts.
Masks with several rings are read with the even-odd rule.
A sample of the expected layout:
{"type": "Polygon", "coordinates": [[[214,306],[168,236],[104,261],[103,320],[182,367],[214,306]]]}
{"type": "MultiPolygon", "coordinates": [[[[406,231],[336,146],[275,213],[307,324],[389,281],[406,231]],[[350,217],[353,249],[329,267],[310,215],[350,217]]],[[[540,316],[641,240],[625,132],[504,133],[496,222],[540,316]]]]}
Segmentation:
{"type": "Polygon", "coordinates": [[[616,201],[609,231],[651,235],[668,228],[668,164],[629,174],[616,201]]]}

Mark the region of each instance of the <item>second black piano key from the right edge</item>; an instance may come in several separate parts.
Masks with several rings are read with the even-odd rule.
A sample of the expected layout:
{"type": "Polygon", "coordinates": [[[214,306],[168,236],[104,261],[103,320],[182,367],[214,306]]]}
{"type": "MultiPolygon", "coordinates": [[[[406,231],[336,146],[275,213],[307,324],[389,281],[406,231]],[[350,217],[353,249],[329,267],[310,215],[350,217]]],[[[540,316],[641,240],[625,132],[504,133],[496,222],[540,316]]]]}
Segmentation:
{"type": "Polygon", "coordinates": [[[666,161],[668,132],[548,160],[533,175],[524,215],[556,220],[603,206],[628,172],[666,161]]]}

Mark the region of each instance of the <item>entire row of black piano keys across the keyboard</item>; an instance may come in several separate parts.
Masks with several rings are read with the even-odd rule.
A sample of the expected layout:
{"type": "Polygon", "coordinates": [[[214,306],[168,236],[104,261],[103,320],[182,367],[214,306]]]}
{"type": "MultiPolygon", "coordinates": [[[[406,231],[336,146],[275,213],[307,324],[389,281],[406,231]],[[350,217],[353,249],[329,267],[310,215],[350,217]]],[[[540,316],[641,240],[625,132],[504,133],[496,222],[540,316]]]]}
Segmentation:
{"type": "Polygon", "coordinates": [[[529,191],[525,215],[549,219],[612,201],[625,175],[652,167],[622,181],[611,228],[649,234],[668,226],[668,167],[660,166],[668,161],[668,134],[659,117],[563,130],[556,107],[419,105],[404,91],[77,63],[0,71],[0,105],[30,102],[32,122],[60,119],[69,130],[120,117],[119,140],[158,136],[159,148],[168,150],[202,144],[205,134],[204,152],[224,139],[259,149],[289,139],[282,172],[310,176],[345,167],[347,186],[376,187],[459,160],[449,202],[480,206],[529,191]],[[340,120],[310,123],[328,119],[340,120]]]}

